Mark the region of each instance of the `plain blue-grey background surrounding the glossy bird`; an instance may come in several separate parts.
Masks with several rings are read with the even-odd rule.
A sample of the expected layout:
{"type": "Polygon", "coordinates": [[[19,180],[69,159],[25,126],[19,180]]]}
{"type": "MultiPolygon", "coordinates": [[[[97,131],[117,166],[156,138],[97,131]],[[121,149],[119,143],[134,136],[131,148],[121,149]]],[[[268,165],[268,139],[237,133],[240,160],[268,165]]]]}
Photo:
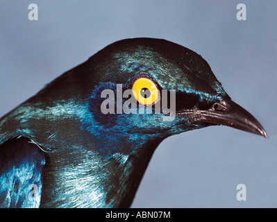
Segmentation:
{"type": "Polygon", "coordinates": [[[274,0],[0,1],[0,116],[112,42],[170,40],[201,54],[269,138],[213,126],[165,139],[132,207],[277,207],[276,9],[274,0]]]}

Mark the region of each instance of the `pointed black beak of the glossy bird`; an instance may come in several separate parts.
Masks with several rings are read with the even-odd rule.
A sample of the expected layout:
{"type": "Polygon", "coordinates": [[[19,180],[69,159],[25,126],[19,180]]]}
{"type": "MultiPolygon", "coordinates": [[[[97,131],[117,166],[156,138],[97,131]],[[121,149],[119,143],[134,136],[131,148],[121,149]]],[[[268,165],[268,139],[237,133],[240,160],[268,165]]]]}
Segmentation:
{"type": "Polygon", "coordinates": [[[192,118],[192,123],[230,126],[267,138],[267,133],[258,120],[230,99],[214,103],[209,110],[181,110],[177,114],[192,118]]]}

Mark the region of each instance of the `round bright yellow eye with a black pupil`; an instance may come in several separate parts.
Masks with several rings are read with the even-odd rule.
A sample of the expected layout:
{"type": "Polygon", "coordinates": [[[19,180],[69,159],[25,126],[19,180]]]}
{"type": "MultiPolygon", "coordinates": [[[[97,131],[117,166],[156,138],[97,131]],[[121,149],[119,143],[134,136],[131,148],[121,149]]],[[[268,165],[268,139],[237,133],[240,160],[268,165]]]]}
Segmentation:
{"type": "Polygon", "coordinates": [[[150,105],[158,99],[158,87],[149,78],[139,78],[133,84],[135,99],[141,104],[150,105]]]}

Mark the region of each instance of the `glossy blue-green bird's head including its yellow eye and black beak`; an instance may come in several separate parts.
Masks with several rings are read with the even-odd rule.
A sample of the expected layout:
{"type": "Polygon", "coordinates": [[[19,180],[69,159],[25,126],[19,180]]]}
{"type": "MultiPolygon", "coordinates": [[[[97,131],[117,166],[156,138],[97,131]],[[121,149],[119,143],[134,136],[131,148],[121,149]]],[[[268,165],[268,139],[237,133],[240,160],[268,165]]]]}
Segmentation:
{"type": "Polygon", "coordinates": [[[230,99],[208,62],[190,49],[140,38],[115,42],[90,60],[97,63],[90,111],[106,133],[164,139],[224,125],[266,137],[260,123],[230,99]]]}

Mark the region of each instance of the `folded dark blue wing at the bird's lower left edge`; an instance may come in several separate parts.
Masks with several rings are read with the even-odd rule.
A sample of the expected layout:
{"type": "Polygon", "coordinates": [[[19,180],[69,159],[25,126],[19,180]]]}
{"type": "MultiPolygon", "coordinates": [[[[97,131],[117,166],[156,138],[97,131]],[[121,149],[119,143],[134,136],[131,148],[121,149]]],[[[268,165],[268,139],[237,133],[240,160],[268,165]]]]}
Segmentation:
{"type": "Polygon", "coordinates": [[[0,146],[0,207],[39,207],[44,152],[29,139],[10,139],[0,146]]]}

